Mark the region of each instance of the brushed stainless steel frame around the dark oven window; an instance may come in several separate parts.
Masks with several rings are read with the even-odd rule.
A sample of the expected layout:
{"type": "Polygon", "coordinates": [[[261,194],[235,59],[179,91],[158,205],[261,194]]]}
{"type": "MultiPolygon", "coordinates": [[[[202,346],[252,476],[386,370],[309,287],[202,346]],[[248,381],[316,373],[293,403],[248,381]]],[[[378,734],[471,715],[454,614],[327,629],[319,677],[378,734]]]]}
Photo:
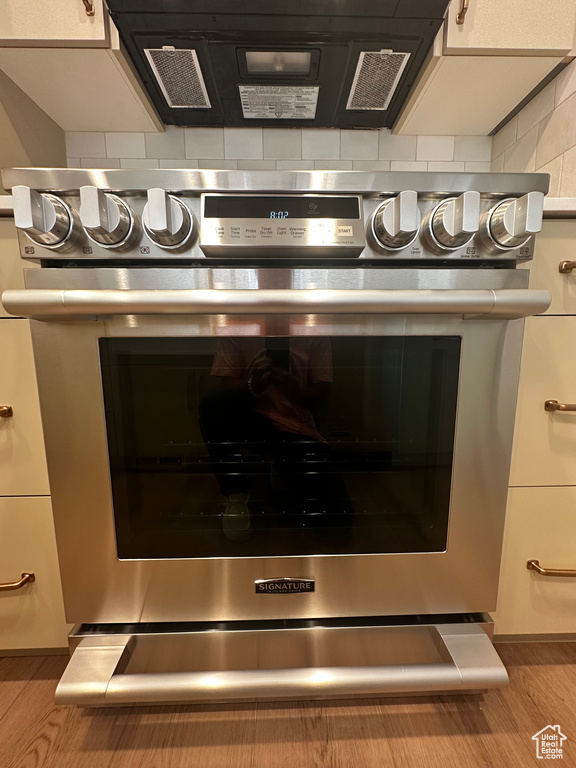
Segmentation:
{"type": "MultiPolygon", "coordinates": [[[[46,278],[47,270],[31,272],[36,272],[32,275],[34,287],[57,279],[54,275],[46,278]]],[[[66,288],[80,288],[71,278],[66,277],[66,288]]],[[[502,283],[510,287],[511,282],[523,287],[527,278],[504,274],[497,278],[500,286],[495,288],[502,283]]],[[[494,275],[485,282],[495,279],[494,275]]],[[[412,274],[405,282],[413,280],[412,274]]],[[[462,337],[446,552],[117,559],[98,339],[214,337],[242,331],[261,335],[263,318],[265,315],[248,313],[125,314],[98,320],[32,322],[68,620],[221,621],[493,610],[524,326],[521,319],[358,313],[290,318],[298,334],[462,337]],[[316,579],[316,591],[281,598],[254,591],[257,579],[292,575],[316,579]]]]}

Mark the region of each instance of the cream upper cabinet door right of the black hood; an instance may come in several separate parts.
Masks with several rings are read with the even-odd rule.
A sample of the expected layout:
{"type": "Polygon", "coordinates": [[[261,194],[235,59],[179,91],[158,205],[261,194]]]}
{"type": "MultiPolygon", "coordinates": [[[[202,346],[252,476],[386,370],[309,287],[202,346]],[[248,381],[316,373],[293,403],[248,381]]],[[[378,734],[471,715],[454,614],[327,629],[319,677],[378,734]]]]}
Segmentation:
{"type": "MultiPolygon", "coordinates": [[[[450,3],[445,54],[563,56],[574,45],[576,0],[470,0],[464,23],[457,24],[462,5],[450,3]]],[[[502,83],[496,82],[494,90],[502,83]]]]}

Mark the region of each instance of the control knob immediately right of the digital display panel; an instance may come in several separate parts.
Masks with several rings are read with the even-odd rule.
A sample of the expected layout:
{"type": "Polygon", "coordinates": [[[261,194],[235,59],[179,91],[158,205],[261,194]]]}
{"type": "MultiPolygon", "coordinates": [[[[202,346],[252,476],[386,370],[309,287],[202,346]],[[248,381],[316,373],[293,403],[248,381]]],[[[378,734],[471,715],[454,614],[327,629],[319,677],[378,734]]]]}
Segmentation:
{"type": "Polygon", "coordinates": [[[412,190],[385,200],[372,216],[372,235],[376,243],[388,251],[399,251],[411,245],[419,228],[418,196],[412,190]]]}

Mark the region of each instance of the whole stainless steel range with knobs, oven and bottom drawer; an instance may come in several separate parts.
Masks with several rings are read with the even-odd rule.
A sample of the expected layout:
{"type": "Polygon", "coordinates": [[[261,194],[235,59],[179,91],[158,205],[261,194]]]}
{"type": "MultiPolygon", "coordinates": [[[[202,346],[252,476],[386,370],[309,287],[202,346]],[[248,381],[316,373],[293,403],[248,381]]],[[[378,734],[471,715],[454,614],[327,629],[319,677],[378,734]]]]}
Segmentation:
{"type": "Polygon", "coordinates": [[[543,175],[12,170],[82,705],[479,690],[543,175]]]}

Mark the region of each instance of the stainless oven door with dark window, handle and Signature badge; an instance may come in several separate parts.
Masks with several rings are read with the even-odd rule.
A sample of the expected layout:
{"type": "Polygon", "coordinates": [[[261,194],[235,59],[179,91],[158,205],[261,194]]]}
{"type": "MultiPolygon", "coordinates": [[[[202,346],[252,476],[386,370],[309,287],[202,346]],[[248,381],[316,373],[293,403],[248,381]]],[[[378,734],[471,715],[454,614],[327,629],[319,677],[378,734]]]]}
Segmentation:
{"type": "Polygon", "coordinates": [[[68,620],[493,609],[527,279],[28,271],[68,620]]]}

